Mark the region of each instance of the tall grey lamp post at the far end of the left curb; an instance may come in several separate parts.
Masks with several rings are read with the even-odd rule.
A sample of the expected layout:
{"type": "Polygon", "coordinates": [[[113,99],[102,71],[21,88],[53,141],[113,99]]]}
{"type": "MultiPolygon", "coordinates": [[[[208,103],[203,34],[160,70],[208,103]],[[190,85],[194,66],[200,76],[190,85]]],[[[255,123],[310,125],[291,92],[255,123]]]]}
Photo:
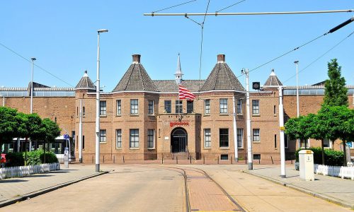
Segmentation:
{"type": "Polygon", "coordinates": [[[96,80],[96,172],[100,171],[100,33],[108,30],[97,31],[97,80],[96,80]]]}

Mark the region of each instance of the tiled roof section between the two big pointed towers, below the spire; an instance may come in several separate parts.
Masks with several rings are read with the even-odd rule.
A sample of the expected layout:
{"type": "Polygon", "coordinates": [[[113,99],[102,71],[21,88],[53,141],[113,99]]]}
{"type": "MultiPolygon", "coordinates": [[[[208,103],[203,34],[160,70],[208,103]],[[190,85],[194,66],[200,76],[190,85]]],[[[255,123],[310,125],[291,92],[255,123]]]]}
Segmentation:
{"type": "MultiPolygon", "coordinates": [[[[162,93],[178,93],[178,84],[174,80],[156,80],[153,81],[157,90],[162,93]]],[[[198,92],[205,80],[183,80],[182,86],[190,92],[198,92]]]]}

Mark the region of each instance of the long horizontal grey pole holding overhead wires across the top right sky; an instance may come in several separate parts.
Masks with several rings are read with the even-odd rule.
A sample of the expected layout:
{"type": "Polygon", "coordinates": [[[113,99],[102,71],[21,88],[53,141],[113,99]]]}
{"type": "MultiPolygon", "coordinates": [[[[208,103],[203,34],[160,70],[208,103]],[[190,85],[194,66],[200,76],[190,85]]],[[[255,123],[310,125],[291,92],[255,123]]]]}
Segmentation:
{"type": "Polygon", "coordinates": [[[261,13],[144,13],[144,16],[254,16],[254,15],[292,15],[309,13],[352,13],[354,9],[331,11],[292,11],[292,12],[261,12],[261,13]]]}

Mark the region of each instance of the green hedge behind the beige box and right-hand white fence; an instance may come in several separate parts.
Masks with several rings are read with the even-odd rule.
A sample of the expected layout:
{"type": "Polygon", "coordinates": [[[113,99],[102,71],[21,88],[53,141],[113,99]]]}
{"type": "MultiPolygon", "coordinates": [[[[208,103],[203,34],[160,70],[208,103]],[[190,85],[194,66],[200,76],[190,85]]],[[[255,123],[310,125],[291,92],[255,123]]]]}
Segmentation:
{"type": "MultiPolygon", "coordinates": [[[[321,147],[312,147],[307,148],[310,151],[314,152],[314,163],[322,164],[322,148],[321,147]]],[[[299,162],[299,151],[302,151],[302,148],[299,148],[295,152],[296,162],[299,162]]],[[[329,148],[324,149],[324,164],[325,165],[334,165],[341,166],[343,165],[343,152],[335,151],[329,148]]]]}

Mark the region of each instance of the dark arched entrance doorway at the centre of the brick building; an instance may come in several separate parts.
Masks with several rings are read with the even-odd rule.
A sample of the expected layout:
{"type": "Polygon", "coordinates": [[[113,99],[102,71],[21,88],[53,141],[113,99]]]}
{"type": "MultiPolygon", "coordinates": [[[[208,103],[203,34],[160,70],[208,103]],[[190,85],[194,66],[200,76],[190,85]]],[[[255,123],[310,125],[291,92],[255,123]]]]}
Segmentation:
{"type": "Polygon", "coordinates": [[[188,146],[187,132],[183,128],[173,129],[171,133],[171,152],[185,153],[188,146]]]}

